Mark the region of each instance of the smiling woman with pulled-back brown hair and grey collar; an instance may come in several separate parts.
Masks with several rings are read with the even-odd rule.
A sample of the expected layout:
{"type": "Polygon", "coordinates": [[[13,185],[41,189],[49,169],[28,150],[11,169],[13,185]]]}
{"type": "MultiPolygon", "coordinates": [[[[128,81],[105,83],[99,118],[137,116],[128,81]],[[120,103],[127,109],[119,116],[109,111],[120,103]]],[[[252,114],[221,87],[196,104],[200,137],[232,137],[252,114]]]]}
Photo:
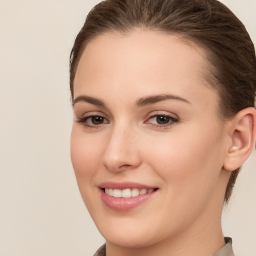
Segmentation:
{"type": "Polygon", "coordinates": [[[95,255],[233,255],[221,211],[256,137],[250,37],[217,0],[106,0],[70,55],[95,255]]]}

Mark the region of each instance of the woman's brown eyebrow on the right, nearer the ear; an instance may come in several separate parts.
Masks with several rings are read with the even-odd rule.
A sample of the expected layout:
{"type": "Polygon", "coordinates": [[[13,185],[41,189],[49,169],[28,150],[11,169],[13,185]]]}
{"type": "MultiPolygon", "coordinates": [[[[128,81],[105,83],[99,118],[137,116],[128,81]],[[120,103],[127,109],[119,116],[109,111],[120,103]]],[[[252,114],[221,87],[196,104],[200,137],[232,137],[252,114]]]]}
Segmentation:
{"type": "Polygon", "coordinates": [[[179,97],[179,96],[176,96],[176,95],[172,95],[172,94],[159,94],[159,95],[152,95],[152,96],[148,96],[148,97],[139,98],[136,101],[136,106],[144,106],[144,105],[154,104],[154,103],[157,103],[159,101],[166,100],[166,99],[176,99],[176,100],[180,100],[180,101],[183,101],[183,102],[191,104],[185,98],[182,98],[182,97],[179,97]]]}

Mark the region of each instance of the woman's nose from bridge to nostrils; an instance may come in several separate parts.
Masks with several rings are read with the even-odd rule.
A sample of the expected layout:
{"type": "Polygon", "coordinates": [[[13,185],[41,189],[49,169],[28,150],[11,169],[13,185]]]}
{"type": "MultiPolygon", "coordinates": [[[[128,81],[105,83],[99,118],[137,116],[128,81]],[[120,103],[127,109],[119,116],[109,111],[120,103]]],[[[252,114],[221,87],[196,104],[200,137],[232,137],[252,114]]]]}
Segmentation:
{"type": "Polygon", "coordinates": [[[141,163],[136,132],[119,125],[113,127],[102,156],[103,165],[110,171],[134,169],[141,163]]]}

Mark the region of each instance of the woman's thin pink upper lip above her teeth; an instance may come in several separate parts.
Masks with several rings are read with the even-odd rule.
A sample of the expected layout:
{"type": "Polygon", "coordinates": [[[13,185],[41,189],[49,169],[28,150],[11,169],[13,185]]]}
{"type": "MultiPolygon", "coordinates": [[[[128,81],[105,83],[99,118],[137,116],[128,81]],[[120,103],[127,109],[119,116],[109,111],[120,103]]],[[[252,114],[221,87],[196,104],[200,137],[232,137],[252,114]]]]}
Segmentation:
{"type": "Polygon", "coordinates": [[[113,188],[113,189],[125,189],[125,188],[157,188],[155,186],[149,186],[146,184],[141,184],[131,181],[115,182],[115,181],[106,181],[98,185],[100,188],[113,188]]]}

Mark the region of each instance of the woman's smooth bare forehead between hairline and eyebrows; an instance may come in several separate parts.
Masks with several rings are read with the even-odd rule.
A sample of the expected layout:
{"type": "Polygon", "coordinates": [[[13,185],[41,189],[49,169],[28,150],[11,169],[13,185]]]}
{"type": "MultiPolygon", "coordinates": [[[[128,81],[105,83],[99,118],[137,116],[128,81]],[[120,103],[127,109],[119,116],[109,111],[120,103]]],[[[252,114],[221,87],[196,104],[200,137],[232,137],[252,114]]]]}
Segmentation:
{"type": "Polygon", "coordinates": [[[98,96],[99,91],[108,93],[109,89],[119,93],[127,87],[138,95],[146,90],[149,95],[170,92],[191,97],[209,92],[206,88],[212,93],[204,78],[208,67],[204,54],[198,45],[179,35],[142,29],[104,33],[82,53],[74,97],[85,92],[98,96]]]}

